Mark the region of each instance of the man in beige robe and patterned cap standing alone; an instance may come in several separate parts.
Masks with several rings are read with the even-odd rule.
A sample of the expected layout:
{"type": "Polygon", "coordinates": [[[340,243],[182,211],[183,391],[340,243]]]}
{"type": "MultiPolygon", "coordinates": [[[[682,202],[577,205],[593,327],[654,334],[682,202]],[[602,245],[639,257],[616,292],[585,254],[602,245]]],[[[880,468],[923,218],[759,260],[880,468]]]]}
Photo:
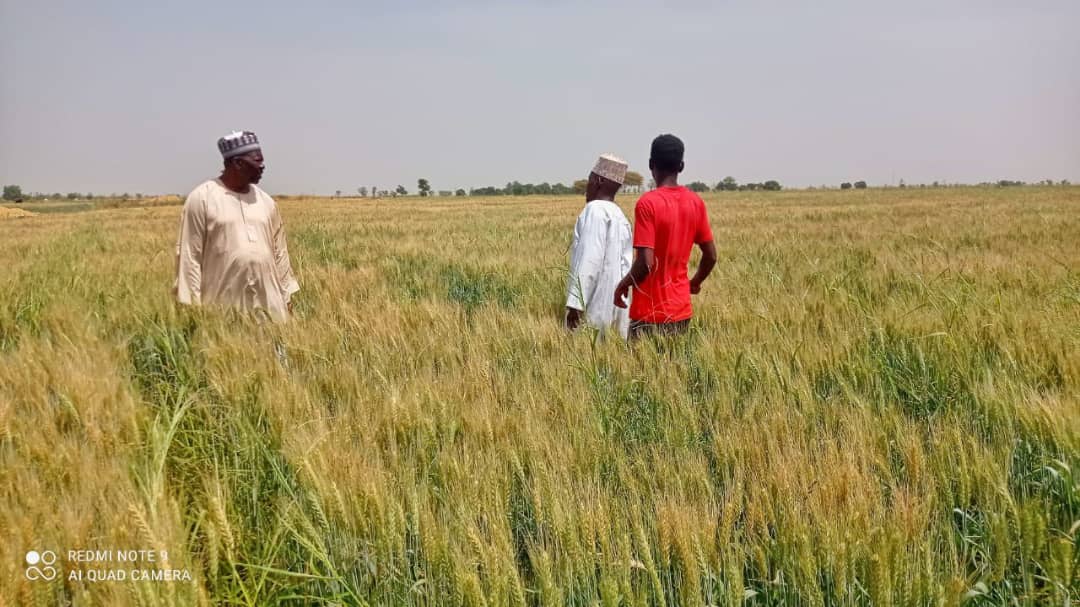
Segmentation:
{"type": "Polygon", "coordinates": [[[285,244],[278,204],[256,184],[262,150],[255,133],[217,141],[225,170],[188,194],[176,246],[176,299],[262,311],[286,321],[300,289],[285,244]]]}

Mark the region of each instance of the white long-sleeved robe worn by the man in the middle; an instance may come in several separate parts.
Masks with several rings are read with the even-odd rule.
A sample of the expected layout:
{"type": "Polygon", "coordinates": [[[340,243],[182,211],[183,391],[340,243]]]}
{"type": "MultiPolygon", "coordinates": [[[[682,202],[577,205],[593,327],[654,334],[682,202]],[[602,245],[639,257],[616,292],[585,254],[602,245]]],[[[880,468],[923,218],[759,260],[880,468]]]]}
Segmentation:
{"type": "Polygon", "coordinates": [[[615,288],[633,262],[630,221],[613,202],[594,200],[585,204],[573,226],[570,246],[570,280],[566,307],[584,312],[585,322],[597,328],[615,327],[626,337],[630,316],[617,308],[615,288]]]}

